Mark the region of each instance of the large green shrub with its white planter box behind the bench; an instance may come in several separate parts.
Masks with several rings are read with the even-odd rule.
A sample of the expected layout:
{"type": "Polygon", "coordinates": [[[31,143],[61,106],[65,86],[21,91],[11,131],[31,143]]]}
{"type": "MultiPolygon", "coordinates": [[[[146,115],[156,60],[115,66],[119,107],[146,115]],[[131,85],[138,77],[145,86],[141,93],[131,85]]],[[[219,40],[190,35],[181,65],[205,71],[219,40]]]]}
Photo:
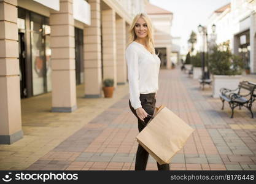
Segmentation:
{"type": "Polygon", "coordinates": [[[242,58],[233,55],[227,45],[213,48],[209,55],[209,70],[213,75],[212,96],[214,98],[219,98],[220,88],[237,88],[242,77],[243,66],[242,58]]]}

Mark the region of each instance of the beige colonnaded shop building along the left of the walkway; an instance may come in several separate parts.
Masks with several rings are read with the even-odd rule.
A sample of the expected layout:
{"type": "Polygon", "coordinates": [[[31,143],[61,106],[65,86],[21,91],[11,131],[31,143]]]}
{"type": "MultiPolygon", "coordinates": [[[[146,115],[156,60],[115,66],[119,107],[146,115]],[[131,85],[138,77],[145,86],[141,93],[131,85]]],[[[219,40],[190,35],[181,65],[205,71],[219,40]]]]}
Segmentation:
{"type": "Polygon", "coordinates": [[[101,98],[104,79],[127,81],[127,30],[147,1],[0,1],[0,144],[23,137],[21,98],[52,92],[52,112],[101,98]]]}

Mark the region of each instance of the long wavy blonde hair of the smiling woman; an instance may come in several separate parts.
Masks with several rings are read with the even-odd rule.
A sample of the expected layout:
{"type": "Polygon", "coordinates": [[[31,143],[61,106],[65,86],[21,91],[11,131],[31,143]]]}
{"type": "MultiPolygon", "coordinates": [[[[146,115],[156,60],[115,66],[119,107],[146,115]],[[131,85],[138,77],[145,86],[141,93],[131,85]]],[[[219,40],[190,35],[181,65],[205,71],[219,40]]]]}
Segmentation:
{"type": "Polygon", "coordinates": [[[149,51],[153,54],[155,54],[155,47],[153,42],[153,26],[151,23],[151,20],[149,16],[146,13],[139,13],[133,18],[133,23],[131,23],[130,29],[129,29],[129,42],[128,45],[131,44],[134,40],[136,40],[137,36],[134,31],[134,26],[139,18],[143,18],[145,20],[145,23],[147,23],[147,37],[145,41],[145,46],[149,51]]]}

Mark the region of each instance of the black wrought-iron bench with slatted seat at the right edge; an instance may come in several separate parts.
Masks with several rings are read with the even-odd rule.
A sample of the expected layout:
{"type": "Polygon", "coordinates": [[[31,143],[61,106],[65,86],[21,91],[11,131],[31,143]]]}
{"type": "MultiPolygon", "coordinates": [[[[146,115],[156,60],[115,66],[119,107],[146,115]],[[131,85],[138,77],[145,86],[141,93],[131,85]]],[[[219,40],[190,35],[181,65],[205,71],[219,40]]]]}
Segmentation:
{"type": "Polygon", "coordinates": [[[224,109],[224,102],[227,101],[232,110],[231,118],[233,118],[234,109],[238,106],[239,109],[241,109],[241,107],[249,109],[252,118],[254,118],[252,103],[256,100],[255,89],[256,84],[247,81],[240,82],[236,90],[221,88],[220,99],[222,100],[222,110],[224,109]]]}

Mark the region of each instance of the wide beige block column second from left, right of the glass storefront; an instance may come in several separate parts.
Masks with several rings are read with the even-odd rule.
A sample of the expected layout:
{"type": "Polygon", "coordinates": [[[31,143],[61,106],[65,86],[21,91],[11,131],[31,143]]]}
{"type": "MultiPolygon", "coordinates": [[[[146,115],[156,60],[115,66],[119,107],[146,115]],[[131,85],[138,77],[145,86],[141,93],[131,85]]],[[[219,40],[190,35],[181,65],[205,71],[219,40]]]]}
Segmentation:
{"type": "Polygon", "coordinates": [[[72,0],[60,0],[60,11],[51,10],[52,111],[77,109],[75,39],[72,0]]]}

